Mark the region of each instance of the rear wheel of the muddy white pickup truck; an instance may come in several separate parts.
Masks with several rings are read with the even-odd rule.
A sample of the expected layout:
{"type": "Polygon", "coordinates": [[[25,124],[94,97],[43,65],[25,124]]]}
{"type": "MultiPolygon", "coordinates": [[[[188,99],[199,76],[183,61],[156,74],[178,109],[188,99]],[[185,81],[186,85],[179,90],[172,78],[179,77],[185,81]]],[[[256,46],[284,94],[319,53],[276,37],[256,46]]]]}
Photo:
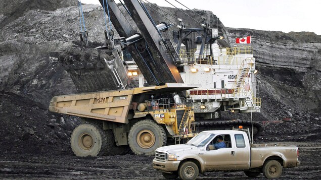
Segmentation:
{"type": "Polygon", "coordinates": [[[282,165],[277,160],[268,160],[264,163],[262,171],[268,179],[278,178],[282,174],[282,165]]]}

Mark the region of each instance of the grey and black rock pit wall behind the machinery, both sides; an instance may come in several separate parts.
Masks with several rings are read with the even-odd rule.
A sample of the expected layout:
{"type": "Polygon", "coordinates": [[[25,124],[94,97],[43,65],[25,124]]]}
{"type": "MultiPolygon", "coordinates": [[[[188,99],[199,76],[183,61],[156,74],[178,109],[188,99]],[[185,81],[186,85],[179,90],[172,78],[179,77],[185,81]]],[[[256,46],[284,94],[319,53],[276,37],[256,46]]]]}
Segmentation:
{"type": "MultiPolygon", "coordinates": [[[[69,137],[79,119],[52,114],[48,105],[54,95],[77,92],[58,61],[62,51],[82,48],[78,45],[76,3],[71,0],[0,3],[4,5],[0,7],[0,136],[5,139],[0,141],[0,151],[70,153],[69,137]]],[[[188,28],[200,26],[180,11],[164,10],[184,19],[188,28]]],[[[88,39],[93,46],[99,46],[105,39],[103,9],[99,5],[84,5],[83,11],[88,39]]],[[[211,27],[218,27],[219,35],[225,37],[219,41],[222,46],[234,45],[236,37],[252,36],[262,97],[262,113],[254,114],[254,121],[280,120],[291,114],[295,120],[293,128],[319,128],[313,126],[320,124],[315,118],[321,116],[319,35],[226,28],[211,12],[195,11],[206,17],[211,27]]],[[[154,10],[150,13],[156,24],[167,21],[154,10]]],[[[188,14],[197,18],[194,13],[188,14]]],[[[177,24],[171,16],[166,18],[177,24]]],[[[229,113],[223,116],[241,120],[250,117],[229,113]]]]}

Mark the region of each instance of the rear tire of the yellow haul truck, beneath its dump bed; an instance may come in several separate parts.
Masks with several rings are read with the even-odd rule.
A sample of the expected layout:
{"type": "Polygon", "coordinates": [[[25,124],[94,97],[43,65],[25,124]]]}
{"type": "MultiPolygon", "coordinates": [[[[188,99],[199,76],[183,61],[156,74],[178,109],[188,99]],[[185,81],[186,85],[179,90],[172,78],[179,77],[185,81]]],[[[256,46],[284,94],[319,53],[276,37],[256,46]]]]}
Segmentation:
{"type": "Polygon", "coordinates": [[[107,138],[107,133],[97,124],[79,125],[71,134],[71,149],[76,156],[100,156],[103,155],[108,144],[114,144],[114,140],[107,138]]]}

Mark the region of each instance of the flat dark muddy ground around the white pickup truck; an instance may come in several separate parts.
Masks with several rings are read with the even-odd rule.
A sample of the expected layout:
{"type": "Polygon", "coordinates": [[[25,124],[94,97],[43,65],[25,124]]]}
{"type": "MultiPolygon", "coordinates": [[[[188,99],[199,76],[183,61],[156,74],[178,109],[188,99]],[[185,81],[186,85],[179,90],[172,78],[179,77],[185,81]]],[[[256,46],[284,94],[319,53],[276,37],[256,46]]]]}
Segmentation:
{"type": "MultiPolygon", "coordinates": [[[[321,143],[287,144],[299,146],[301,166],[284,169],[281,178],[320,179],[321,143]]],[[[153,169],[151,156],[1,155],[0,158],[2,179],[164,179],[153,169]]],[[[249,178],[243,171],[206,172],[198,179],[264,179],[264,176],[249,178]]]]}

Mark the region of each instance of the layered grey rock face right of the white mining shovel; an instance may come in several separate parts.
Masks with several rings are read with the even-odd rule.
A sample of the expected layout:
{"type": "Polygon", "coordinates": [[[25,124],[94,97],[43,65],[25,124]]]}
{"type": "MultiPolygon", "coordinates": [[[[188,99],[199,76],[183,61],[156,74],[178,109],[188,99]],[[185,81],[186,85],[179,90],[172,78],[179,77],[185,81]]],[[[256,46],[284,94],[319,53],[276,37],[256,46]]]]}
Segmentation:
{"type": "MultiPolygon", "coordinates": [[[[320,35],[227,28],[227,36],[232,45],[236,45],[233,42],[236,37],[251,36],[262,104],[273,105],[265,102],[276,100],[284,103],[280,108],[292,109],[292,113],[301,110],[320,112],[320,35]]],[[[270,108],[262,108],[263,114],[270,108]]]]}

